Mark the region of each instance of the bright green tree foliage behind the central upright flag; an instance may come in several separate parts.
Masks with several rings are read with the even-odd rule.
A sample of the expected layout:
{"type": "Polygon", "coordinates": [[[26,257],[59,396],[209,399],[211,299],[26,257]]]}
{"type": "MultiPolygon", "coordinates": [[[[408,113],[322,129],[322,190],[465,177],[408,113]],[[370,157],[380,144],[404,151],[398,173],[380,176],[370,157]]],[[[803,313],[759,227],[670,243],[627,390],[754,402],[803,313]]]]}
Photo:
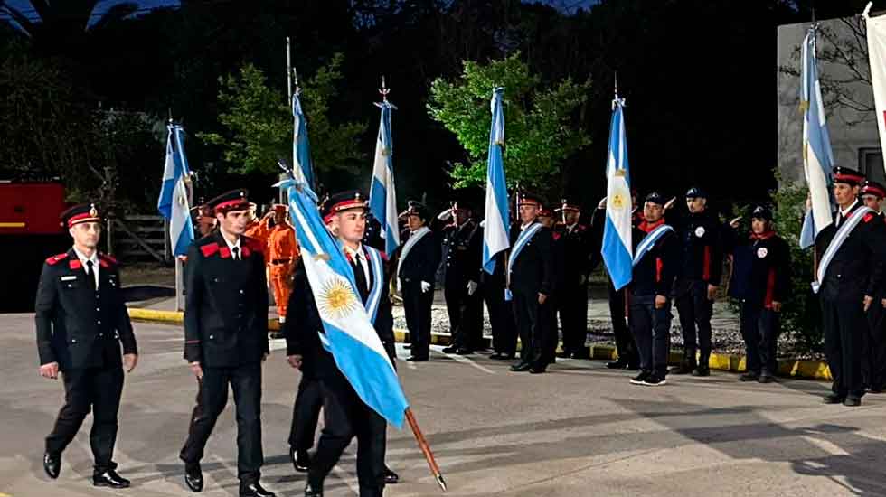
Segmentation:
{"type": "Polygon", "coordinates": [[[499,86],[504,87],[504,169],[510,185],[550,183],[566,158],[590,144],[575,122],[587,101],[589,80],[566,78],[542,88],[541,78],[530,72],[519,52],[488,64],[465,61],[458,80],[431,83],[428,103],[430,117],[454,133],[467,151],[470,164],[458,163],[450,172],[456,187],[485,182],[489,100],[499,86]]]}

